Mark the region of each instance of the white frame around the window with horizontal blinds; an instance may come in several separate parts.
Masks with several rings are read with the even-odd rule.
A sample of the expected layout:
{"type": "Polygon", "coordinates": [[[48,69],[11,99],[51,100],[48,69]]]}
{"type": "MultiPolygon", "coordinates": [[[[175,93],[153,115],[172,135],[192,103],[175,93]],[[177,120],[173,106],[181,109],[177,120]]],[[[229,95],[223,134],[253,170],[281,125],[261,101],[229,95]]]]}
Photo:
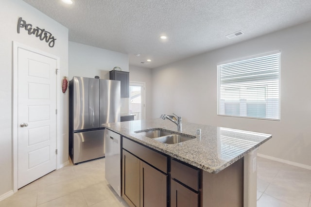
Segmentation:
{"type": "MultiPolygon", "coordinates": [[[[241,99],[239,100],[240,103],[241,99]]],[[[224,108],[225,110],[225,108],[224,108]]],[[[247,109],[246,109],[247,111],[247,109]]],[[[281,119],[281,51],[280,50],[275,50],[271,52],[266,52],[266,53],[261,53],[258,55],[253,55],[253,56],[247,56],[244,58],[239,58],[239,59],[234,59],[230,61],[225,61],[217,64],[217,116],[225,116],[225,117],[236,117],[236,118],[247,118],[247,119],[262,119],[262,120],[272,120],[272,121],[280,121],[281,119]],[[220,66],[223,64],[230,64],[230,63],[235,63],[239,61],[247,61],[253,58],[259,58],[259,57],[264,57],[268,55],[273,55],[273,54],[279,54],[279,59],[278,59],[278,118],[267,118],[267,117],[252,117],[252,116],[241,116],[241,115],[228,115],[228,114],[221,114],[221,106],[220,106],[220,90],[221,90],[221,79],[220,79],[220,66]]]]}

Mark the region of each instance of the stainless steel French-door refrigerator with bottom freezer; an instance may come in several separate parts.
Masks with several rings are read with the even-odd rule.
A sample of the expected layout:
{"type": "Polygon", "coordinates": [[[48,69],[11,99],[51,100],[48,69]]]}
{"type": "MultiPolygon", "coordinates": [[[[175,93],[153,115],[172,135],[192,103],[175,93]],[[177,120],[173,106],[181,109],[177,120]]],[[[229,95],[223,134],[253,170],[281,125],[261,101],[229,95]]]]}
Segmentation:
{"type": "Polygon", "coordinates": [[[74,164],[105,156],[104,123],[120,122],[120,81],[69,81],[69,156],[74,164]]]}

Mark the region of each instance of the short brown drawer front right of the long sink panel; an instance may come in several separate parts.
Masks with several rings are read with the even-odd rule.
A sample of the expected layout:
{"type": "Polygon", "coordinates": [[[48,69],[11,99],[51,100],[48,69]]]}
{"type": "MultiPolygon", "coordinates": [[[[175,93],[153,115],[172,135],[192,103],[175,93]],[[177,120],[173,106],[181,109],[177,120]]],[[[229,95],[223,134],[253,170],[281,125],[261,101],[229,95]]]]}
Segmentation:
{"type": "Polygon", "coordinates": [[[195,191],[199,191],[200,170],[171,159],[171,176],[195,191]]]}

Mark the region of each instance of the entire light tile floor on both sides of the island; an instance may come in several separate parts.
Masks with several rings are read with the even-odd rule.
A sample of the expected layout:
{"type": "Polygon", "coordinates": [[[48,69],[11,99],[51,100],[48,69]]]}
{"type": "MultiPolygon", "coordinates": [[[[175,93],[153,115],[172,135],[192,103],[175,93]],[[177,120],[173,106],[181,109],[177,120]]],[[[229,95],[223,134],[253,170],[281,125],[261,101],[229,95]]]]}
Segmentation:
{"type": "MultiPolygon", "coordinates": [[[[104,179],[105,159],[53,171],[0,207],[128,207],[104,179]]],[[[311,207],[311,171],[258,158],[257,207],[311,207]]]]}

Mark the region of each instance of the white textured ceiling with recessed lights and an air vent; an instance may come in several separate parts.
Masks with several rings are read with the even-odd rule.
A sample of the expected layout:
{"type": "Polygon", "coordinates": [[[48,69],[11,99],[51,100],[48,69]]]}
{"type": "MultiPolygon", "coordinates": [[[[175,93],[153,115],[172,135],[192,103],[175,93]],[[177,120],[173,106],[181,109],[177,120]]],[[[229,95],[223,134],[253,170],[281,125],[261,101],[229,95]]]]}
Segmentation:
{"type": "Polygon", "coordinates": [[[127,53],[130,65],[148,68],[311,20],[311,0],[24,1],[67,27],[69,41],[127,53]]]}

